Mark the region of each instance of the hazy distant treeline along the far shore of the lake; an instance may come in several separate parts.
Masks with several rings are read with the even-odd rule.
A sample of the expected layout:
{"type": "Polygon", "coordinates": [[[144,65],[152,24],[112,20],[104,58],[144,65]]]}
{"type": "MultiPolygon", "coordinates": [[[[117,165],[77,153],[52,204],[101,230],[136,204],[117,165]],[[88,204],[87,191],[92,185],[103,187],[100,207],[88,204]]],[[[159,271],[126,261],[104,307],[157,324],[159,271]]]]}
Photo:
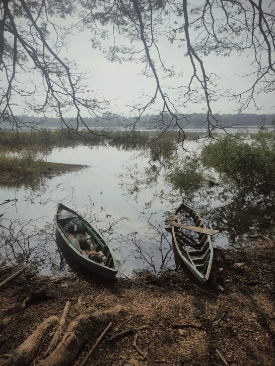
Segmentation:
{"type": "MultiPolygon", "coordinates": [[[[17,116],[19,125],[21,126],[32,126],[34,124],[39,124],[40,127],[60,127],[61,122],[58,118],[34,118],[31,116],[17,116]]],[[[220,121],[223,126],[260,126],[260,125],[270,125],[271,122],[275,121],[274,115],[257,115],[257,114],[247,114],[247,113],[238,113],[238,114],[224,114],[224,115],[215,115],[216,119],[220,121]]],[[[180,118],[180,116],[179,116],[180,118]]],[[[124,116],[118,116],[114,114],[106,114],[104,118],[83,118],[83,122],[88,127],[92,128],[118,128],[118,127],[130,127],[137,121],[137,118],[127,119],[124,116]]],[[[163,123],[167,126],[171,121],[171,116],[169,114],[165,114],[163,120],[160,120],[159,117],[153,115],[144,115],[142,116],[138,122],[136,123],[137,128],[160,128],[163,126],[163,123]]],[[[186,119],[181,119],[179,124],[182,127],[203,127],[204,122],[206,121],[206,115],[204,113],[195,113],[192,116],[187,117],[186,119]]],[[[66,118],[65,122],[70,126],[75,127],[76,121],[75,119],[66,118]]],[[[10,123],[7,121],[1,121],[1,127],[9,127],[10,123]]],[[[84,124],[79,124],[80,127],[85,127],[84,124]]],[[[65,127],[65,126],[64,126],[65,127]]]]}

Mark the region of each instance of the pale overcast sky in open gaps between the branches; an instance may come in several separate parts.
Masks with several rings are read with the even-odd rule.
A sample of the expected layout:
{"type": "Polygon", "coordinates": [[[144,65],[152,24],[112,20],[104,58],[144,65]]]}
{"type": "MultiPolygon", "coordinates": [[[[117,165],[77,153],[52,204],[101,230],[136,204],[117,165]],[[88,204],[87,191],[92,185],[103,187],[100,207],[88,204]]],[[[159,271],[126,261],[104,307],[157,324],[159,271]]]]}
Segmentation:
{"type": "MultiPolygon", "coordinates": [[[[77,19],[71,19],[77,21],[77,19]]],[[[61,22],[62,20],[58,20],[61,22]]],[[[70,23],[69,19],[66,20],[67,25],[70,23]]],[[[112,29],[109,29],[110,39],[103,42],[103,46],[108,47],[112,45],[113,36],[112,29]]],[[[148,97],[153,96],[156,89],[156,81],[153,77],[146,77],[140,75],[144,65],[135,62],[110,62],[104,58],[102,51],[94,50],[91,47],[90,38],[91,33],[88,30],[80,32],[77,29],[73,30],[73,35],[69,37],[68,57],[69,59],[75,59],[78,63],[78,71],[81,70],[87,72],[91,77],[88,80],[89,88],[96,91],[96,97],[99,99],[106,98],[113,100],[111,102],[111,108],[114,113],[128,115],[131,108],[129,105],[145,103],[148,97]]],[[[116,36],[116,44],[124,43],[127,46],[133,47],[129,42],[125,41],[122,37],[116,36]]],[[[141,42],[134,45],[136,48],[142,48],[141,42]]],[[[175,42],[173,45],[165,38],[159,39],[158,47],[160,54],[163,57],[166,67],[174,66],[178,72],[183,72],[181,77],[172,77],[163,79],[164,74],[159,71],[161,77],[161,84],[164,89],[169,92],[170,98],[176,98],[175,91],[165,88],[168,84],[170,87],[175,88],[183,84],[188,84],[192,75],[192,67],[189,58],[185,57],[185,48],[179,48],[179,43],[175,42]]],[[[62,56],[66,55],[64,50],[61,53],[62,56]]],[[[252,71],[250,63],[253,58],[249,53],[244,53],[239,56],[237,53],[233,53],[230,57],[217,57],[210,55],[202,57],[205,64],[206,73],[216,73],[219,77],[219,87],[224,90],[233,90],[234,92],[241,92],[251,86],[253,79],[243,77],[240,78],[237,75],[244,75],[252,71]]],[[[161,108],[162,101],[159,100],[154,109],[161,108]]],[[[253,106],[243,111],[243,113],[258,113],[258,114],[274,114],[275,109],[275,94],[274,93],[261,93],[258,96],[258,105],[262,107],[261,111],[255,111],[253,106]]],[[[184,114],[189,113],[202,113],[205,111],[205,102],[190,104],[186,108],[182,108],[180,112],[184,114]]],[[[220,98],[216,102],[211,103],[211,109],[213,113],[237,113],[238,106],[232,101],[228,101],[226,98],[220,98]]],[[[22,104],[16,107],[16,113],[22,114],[22,104]]],[[[153,113],[153,110],[148,110],[147,113],[153,113]]],[[[73,112],[69,112],[70,116],[73,112]]],[[[84,110],[82,111],[84,117],[88,114],[84,110]]],[[[55,116],[49,116],[55,117],[55,116]]]]}

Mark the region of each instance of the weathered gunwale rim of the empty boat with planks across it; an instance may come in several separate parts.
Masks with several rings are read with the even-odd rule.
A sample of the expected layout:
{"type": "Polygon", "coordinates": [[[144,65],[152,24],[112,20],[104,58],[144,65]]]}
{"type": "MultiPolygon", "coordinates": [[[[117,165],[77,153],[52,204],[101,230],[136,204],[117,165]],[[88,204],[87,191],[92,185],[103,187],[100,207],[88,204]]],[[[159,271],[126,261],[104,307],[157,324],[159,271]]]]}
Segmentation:
{"type": "MultiPolygon", "coordinates": [[[[201,220],[201,225],[200,227],[205,227],[205,224],[202,220],[202,218],[200,217],[200,215],[193,209],[191,208],[190,206],[188,206],[187,204],[185,203],[181,203],[175,210],[174,212],[174,215],[177,215],[178,212],[180,210],[184,210],[184,211],[190,211],[193,213],[196,214],[196,216],[198,217],[199,220],[201,220]]],[[[193,220],[194,221],[194,220],[193,220]]],[[[196,224],[195,224],[196,225],[196,224]]],[[[211,270],[211,265],[212,265],[212,260],[213,260],[213,247],[212,247],[212,242],[211,242],[211,237],[210,235],[207,235],[207,234],[204,234],[204,236],[207,237],[207,240],[206,241],[209,241],[209,248],[210,248],[210,258],[208,260],[208,266],[207,266],[207,271],[206,271],[206,274],[202,274],[188,259],[186,259],[184,257],[184,255],[182,254],[180,248],[179,248],[179,245],[178,245],[178,242],[177,242],[177,238],[176,238],[176,235],[175,235],[175,227],[172,226],[172,237],[173,237],[173,242],[176,246],[176,249],[177,249],[177,252],[180,256],[180,258],[182,259],[182,261],[186,264],[186,266],[190,269],[190,271],[194,274],[194,276],[201,282],[201,283],[204,283],[206,282],[208,279],[209,279],[209,275],[210,275],[210,270],[211,270]]]]}

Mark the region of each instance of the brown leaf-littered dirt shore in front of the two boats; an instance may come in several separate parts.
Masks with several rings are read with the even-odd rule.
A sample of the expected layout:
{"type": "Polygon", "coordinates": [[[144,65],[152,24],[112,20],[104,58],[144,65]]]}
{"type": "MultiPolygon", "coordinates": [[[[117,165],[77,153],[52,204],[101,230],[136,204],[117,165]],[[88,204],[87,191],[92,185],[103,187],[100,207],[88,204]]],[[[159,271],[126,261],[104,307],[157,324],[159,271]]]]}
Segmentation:
{"type": "MultiPolygon", "coordinates": [[[[261,239],[248,242],[246,247],[239,251],[214,249],[206,286],[196,282],[185,268],[165,271],[160,276],[145,271],[133,280],[116,278],[112,282],[77,274],[38,278],[28,269],[0,292],[0,319],[12,319],[0,333],[0,340],[14,334],[0,345],[0,354],[12,353],[48,316],[60,317],[70,300],[67,325],[88,307],[109,309],[119,304],[124,312],[113,317],[112,334],[118,329],[148,326],[138,333],[137,340],[145,358],[133,347],[135,334],[114,343],[106,337],[87,365],[225,365],[218,351],[231,366],[273,366],[275,247],[261,239]],[[22,310],[26,296],[39,289],[45,289],[53,298],[22,310]],[[180,327],[184,324],[197,328],[180,327]]],[[[14,269],[2,270],[0,281],[12,272],[14,269]]],[[[80,365],[107,325],[99,322],[90,330],[70,365],[80,365]]],[[[33,365],[41,360],[52,335],[44,340],[33,365]]]]}

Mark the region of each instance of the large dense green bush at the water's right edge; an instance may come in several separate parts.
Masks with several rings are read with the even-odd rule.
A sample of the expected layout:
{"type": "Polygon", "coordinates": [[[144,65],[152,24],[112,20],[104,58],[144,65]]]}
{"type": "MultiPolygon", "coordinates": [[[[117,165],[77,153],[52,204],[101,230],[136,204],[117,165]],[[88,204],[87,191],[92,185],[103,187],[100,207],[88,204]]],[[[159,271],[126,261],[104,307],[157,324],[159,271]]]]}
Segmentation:
{"type": "Polygon", "coordinates": [[[271,198],[275,194],[275,133],[259,130],[250,143],[232,137],[204,146],[204,166],[243,196],[271,198]]]}

